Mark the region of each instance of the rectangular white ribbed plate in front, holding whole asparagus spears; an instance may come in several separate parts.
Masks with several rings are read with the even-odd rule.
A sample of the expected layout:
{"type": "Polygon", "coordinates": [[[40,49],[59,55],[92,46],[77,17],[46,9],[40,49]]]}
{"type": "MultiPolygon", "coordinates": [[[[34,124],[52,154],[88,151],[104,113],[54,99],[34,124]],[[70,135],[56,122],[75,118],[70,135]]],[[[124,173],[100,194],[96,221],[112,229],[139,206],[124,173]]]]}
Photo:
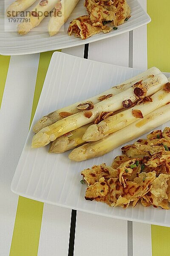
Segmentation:
{"type": "MultiPolygon", "coordinates": [[[[69,152],[49,154],[48,146],[31,149],[31,140],[34,136],[32,127],[42,116],[55,109],[97,95],[140,72],[141,70],[55,52],[48,68],[26,144],[11,183],[11,190],[18,195],[48,204],[113,218],[170,226],[170,211],[168,210],[145,208],[140,204],[135,208],[130,206],[127,209],[122,209],[121,207],[109,207],[101,202],[85,201],[86,185],[80,183],[82,179],[80,172],[95,164],[111,165],[113,158],[121,154],[121,147],[102,157],[79,163],[68,159],[69,152]]],[[[165,125],[170,125],[170,122],[160,128],[165,125]]]]}

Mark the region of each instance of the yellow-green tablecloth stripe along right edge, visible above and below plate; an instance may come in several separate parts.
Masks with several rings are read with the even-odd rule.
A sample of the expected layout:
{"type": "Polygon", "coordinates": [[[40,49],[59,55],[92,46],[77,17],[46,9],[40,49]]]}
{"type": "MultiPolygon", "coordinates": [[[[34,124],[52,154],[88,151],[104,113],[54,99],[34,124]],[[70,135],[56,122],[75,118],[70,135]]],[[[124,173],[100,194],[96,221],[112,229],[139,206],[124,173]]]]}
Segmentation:
{"type": "MultiPolygon", "coordinates": [[[[156,66],[170,72],[170,1],[147,0],[147,12],[152,21],[147,26],[148,68],[156,66]]],[[[151,225],[152,256],[170,254],[170,228],[151,225]]]]}

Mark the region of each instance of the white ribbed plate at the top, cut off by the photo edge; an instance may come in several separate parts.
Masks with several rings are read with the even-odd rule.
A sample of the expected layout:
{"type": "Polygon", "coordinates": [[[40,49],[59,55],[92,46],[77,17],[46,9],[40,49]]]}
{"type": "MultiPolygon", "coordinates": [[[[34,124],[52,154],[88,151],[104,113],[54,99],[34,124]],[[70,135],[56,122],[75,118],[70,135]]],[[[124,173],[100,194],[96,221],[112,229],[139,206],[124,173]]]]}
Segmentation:
{"type": "MultiPolygon", "coordinates": [[[[13,0],[6,0],[6,6],[11,4],[13,0]]],[[[38,2],[38,1],[37,1],[38,2]]],[[[33,5],[35,6],[37,2],[33,5]]],[[[3,4],[4,0],[0,0],[0,54],[2,55],[21,55],[21,54],[31,54],[37,52],[46,52],[50,50],[64,49],[68,47],[74,47],[77,45],[87,44],[102,40],[105,38],[110,38],[115,35],[120,35],[124,32],[136,29],[139,26],[145,25],[150,22],[150,17],[142,9],[137,0],[127,0],[131,8],[131,17],[124,24],[118,26],[117,30],[111,30],[109,33],[99,33],[86,40],[81,40],[80,38],[75,38],[74,35],[68,36],[67,30],[71,20],[82,15],[87,15],[86,9],[83,6],[84,0],[80,0],[76,8],[72,12],[65,26],[61,28],[62,32],[57,35],[50,37],[48,32],[39,32],[40,28],[43,31],[47,31],[47,25],[49,17],[46,17],[40,23],[40,27],[32,29],[28,35],[21,36],[18,35],[16,31],[17,23],[13,23],[11,28],[13,32],[4,31],[4,19],[8,22],[8,18],[4,18],[3,14],[3,4]],[[64,30],[64,31],[63,31],[64,30]]],[[[28,10],[31,10],[30,7],[28,10]]],[[[10,23],[12,24],[12,23],[10,23]]]]}

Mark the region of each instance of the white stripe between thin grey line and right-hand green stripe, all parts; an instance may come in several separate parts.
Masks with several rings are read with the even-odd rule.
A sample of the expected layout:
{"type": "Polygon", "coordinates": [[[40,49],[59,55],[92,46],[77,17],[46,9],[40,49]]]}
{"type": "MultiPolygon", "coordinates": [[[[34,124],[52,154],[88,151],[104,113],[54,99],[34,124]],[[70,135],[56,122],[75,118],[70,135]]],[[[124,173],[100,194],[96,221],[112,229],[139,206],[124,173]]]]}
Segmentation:
{"type": "MultiPolygon", "coordinates": [[[[140,4],[147,9],[146,0],[141,0],[140,4]]],[[[147,26],[133,31],[133,67],[147,69],[147,26]]],[[[150,224],[133,222],[133,256],[136,255],[152,256],[150,224]]]]}

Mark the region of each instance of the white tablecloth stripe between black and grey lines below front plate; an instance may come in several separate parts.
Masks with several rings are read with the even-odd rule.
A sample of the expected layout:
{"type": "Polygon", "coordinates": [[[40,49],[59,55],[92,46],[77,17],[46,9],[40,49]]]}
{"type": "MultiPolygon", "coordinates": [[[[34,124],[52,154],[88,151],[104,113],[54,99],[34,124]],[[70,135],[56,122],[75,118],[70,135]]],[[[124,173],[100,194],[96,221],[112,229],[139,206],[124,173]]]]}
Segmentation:
{"type": "Polygon", "coordinates": [[[77,212],[74,256],[127,256],[127,221],[77,212]]]}

